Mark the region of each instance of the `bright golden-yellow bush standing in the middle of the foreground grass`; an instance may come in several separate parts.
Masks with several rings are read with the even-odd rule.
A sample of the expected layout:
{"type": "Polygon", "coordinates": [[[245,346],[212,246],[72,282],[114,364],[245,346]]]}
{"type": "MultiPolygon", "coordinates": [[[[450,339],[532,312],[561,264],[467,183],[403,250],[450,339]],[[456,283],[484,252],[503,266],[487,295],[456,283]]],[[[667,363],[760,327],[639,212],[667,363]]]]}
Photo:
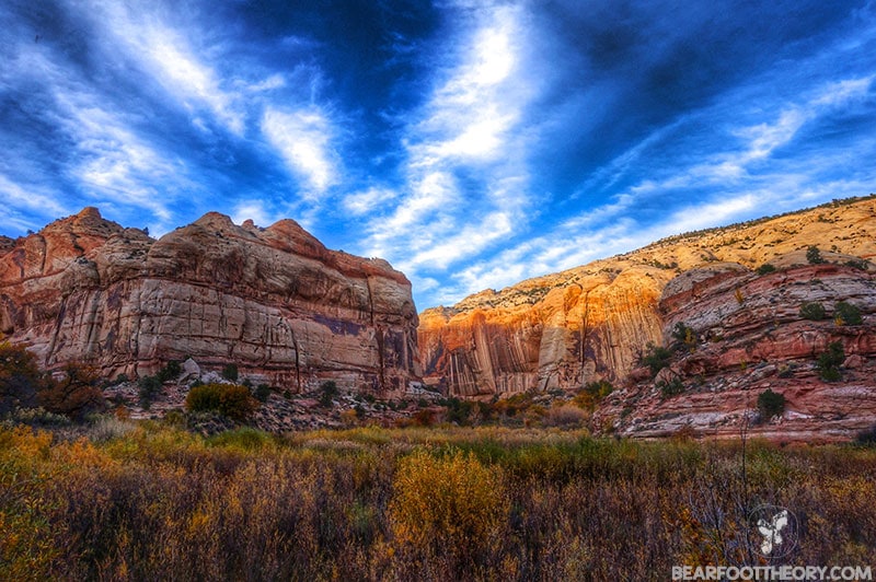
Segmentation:
{"type": "Polygon", "coordinates": [[[430,546],[470,559],[495,542],[508,512],[502,473],[472,452],[404,457],[393,481],[390,524],[396,543],[430,546]]]}

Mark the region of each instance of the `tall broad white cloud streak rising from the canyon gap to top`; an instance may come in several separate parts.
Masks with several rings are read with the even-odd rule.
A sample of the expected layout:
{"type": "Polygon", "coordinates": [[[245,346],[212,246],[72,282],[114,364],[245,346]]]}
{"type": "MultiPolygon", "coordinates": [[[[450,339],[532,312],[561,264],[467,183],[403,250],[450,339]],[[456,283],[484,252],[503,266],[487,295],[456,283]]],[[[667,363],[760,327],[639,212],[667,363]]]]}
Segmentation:
{"type": "Polygon", "coordinates": [[[512,4],[454,14],[462,32],[442,47],[424,104],[402,117],[404,185],[368,226],[368,254],[416,273],[415,284],[433,286],[429,272],[505,240],[530,203],[532,139],[521,129],[539,88],[527,67],[528,14],[512,4]]]}

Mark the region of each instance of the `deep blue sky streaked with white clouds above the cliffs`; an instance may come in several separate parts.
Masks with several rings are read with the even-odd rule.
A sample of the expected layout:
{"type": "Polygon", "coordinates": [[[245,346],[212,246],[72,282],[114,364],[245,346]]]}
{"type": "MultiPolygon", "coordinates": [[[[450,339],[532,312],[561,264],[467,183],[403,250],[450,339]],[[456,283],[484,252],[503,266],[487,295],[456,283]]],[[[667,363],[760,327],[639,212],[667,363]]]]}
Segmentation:
{"type": "Polygon", "coordinates": [[[452,304],[876,190],[867,1],[0,4],[0,233],[292,218],[452,304]]]}

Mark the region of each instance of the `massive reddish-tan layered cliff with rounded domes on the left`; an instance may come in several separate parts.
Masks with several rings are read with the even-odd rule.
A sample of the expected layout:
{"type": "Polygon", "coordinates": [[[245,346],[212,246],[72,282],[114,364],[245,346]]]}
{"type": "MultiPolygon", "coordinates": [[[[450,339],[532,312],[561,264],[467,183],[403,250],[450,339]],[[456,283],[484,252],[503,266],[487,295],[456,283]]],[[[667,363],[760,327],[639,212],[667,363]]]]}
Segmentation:
{"type": "Polygon", "coordinates": [[[416,327],[404,275],[291,220],[208,213],[154,241],[85,209],[0,246],[0,331],[49,369],[142,375],[194,357],[291,391],[397,393],[419,375],[416,327]]]}

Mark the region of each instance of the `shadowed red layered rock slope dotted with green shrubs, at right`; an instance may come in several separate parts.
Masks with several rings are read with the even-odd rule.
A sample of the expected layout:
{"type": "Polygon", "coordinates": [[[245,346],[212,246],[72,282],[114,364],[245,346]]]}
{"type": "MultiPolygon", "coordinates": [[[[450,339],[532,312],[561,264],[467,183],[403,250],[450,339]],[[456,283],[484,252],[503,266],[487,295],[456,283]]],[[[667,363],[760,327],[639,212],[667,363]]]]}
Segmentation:
{"type": "Polygon", "coordinates": [[[603,430],[661,436],[680,429],[738,435],[751,431],[777,439],[849,439],[876,423],[876,275],[839,264],[808,265],[803,253],[789,265],[759,276],[744,268],[704,268],[667,286],[660,301],[664,344],[675,344],[669,365],[650,379],[637,370],[597,415],[603,430]],[[854,305],[861,323],[837,319],[838,302],[854,305]],[[811,321],[800,306],[818,303],[826,318],[811,321]],[[678,325],[691,333],[672,334],[678,325]],[[684,341],[687,339],[687,341],[684,341]],[[841,345],[834,380],[822,377],[819,357],[841,345]],[[785,411],[759,419],[758,396],[782,394],[785,411]]]}

